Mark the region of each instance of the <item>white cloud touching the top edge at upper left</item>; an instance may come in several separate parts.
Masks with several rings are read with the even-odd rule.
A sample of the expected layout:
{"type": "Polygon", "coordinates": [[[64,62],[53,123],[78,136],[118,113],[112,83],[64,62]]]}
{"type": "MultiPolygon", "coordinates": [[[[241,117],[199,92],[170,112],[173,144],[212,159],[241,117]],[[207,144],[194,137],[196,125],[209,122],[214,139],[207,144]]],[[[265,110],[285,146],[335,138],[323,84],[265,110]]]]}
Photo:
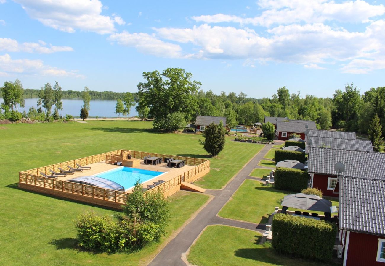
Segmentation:
{"type": "Polygon", "coordinates": [[[75,32],[79,29],[105,34],[115,31],[116,20],[100,15],[103,5],[99,0],[15,0],[15,2],[20,3],[31,18],[63,32],[75,32]]]}

